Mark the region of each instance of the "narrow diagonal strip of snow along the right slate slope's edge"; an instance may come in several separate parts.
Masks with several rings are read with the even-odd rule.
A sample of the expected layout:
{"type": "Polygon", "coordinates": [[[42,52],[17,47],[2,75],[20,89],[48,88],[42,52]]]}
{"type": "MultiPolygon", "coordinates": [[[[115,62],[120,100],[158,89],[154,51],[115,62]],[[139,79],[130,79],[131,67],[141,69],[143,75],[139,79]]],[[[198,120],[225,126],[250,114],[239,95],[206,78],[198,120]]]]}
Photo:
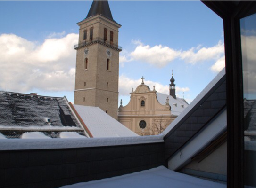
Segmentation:
{"type": "Polygon", "coordinates": [[[200,94],[198,94],[198,96],[188,105],[187,108],[185,108],[182,113],[173,120],[173,122],[167,126],[167,128],[165,129],[165,131],[161,134],[163,134],[164,136],[169,133],[173,127],[175,125],[177,125],[182,118],[185,117],[185,115],[194,108],[194,106],[215,86],[215,84],[217,84],[217,82],[223,78],[223,76],[225,75],[226,71],[225,71],[225,67],[223,68],[222,71],[220,71],[217,76],[203,89],[203,91],[200,92],[200,94]]]}

